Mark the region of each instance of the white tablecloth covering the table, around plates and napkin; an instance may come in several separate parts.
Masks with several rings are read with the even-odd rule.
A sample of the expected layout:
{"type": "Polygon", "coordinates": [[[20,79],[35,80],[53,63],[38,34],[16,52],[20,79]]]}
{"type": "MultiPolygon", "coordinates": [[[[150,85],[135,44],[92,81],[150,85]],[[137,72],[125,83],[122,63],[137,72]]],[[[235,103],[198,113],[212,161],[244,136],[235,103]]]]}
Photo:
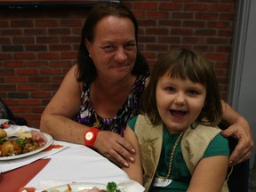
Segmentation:
{"type": "MultiPolygon", "coordinates": [[[[6,129],[6,132],[8,134],[28,132],[30,129],[33,128],[12,125],[6,129]]],[[[70,183],[98,183],[107,186],[108,182],[114,181],[118,188],[122,189],[122,192],[144,191],[139,183],[129,180],[122,169],[92,148],[58,140],[53,140],[53,144],[63,148],[53,148],[50,151],[41,151],[31,156],[1,161],[0,172],[26,166],[40,158],[51,158],[44,169],[28,182],[27,188],[36,188],[37,192],[63,184],[67,186],[70,183]]]]}

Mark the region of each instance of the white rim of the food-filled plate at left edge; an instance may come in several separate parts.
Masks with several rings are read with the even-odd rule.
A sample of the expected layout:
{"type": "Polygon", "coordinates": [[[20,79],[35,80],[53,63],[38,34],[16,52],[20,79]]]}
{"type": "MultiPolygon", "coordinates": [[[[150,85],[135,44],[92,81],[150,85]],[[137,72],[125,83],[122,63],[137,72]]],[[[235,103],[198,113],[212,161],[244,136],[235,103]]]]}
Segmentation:
{"type": "Polygon", "coordinates": [[[31,151],[31,152],[28,152],[25,154],[16,155],[16,156],[0,156],[0,161],[12,160],[12,159],[17,159],[17,158],[22,158],[25,156],[32,156],[34,154],[37,154],[37,153],[43,151],[45,148],[48,148],[52,144],[52,136],[47,133],[44,133],[44,136],[45,136],[47,142],[45,143],[43,148],[38,148],[34,151],[31,151]]]}

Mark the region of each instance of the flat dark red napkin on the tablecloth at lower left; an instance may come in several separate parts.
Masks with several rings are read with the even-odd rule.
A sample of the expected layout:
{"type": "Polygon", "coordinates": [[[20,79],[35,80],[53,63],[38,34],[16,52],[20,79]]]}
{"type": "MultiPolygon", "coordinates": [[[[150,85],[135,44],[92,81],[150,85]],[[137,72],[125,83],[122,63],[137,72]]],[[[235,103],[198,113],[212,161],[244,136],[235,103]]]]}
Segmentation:
{"type": "Polygon", "coordinates": [[[35,177],[51,159],[39,159],[32,164],[22,166],[10,172],[0,174],[0,191],[19,191],[29,180],[35,177]],[[17,175],[20,175],[17,180],[17,175]]]}

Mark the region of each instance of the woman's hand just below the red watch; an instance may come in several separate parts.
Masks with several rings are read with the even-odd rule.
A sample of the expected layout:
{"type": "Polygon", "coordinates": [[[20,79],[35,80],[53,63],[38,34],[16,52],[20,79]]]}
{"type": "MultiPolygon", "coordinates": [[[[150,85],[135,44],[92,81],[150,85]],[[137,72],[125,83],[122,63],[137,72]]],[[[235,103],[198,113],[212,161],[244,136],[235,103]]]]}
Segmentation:
{"type": "Polygon", "coordinates": [[[134,147],[116,132],[98,132],[93,148],[119,167],[129,167],[127,160],[134,162],[134,147]]]}

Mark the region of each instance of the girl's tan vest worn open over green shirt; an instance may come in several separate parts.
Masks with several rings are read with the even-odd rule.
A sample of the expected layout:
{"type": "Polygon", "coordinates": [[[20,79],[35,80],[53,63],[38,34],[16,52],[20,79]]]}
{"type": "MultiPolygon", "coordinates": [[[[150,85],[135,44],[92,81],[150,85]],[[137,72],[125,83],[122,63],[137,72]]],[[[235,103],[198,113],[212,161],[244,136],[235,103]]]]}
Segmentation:
{"type": "MultiPolygon", "coordinates": [[[[159,163],[163,143],[163,128],[164,124],[151,124],[147,116],[139,115],[137,117],[134,132],[140,144],[145,191],[148,191],[151,186],[157,164],[159,163]]],[[[196,164],[204,156],[204,152],[209,143],[220,131],[218,127],[199,124],[196,126],[196,129],[188,127],[188,130],[184,133],[180,146],[182,156],[191,175],[196,168],[196,164]],[[198,150],[198,148],[200,148],[200,150],[198,150]]],[[[221,192],[228,192],[227,181],[225,181],[221,192]]]]}

